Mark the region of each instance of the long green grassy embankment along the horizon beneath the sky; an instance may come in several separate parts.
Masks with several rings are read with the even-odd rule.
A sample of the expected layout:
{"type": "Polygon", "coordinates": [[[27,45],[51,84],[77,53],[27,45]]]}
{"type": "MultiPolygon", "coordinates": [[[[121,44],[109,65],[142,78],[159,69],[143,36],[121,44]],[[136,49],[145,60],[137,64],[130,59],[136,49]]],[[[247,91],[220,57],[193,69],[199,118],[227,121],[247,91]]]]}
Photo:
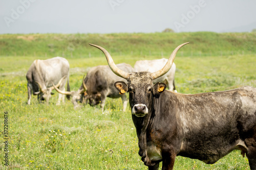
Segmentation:
{"type": "Polygon", "coordinates": [[[115,33],[115,34],[3,34],[0,56],[98,57],[97,44],[111,55],[168,57],[181,43],[178,55],[219,56],[256,54],[256,33],[115,33]]]}

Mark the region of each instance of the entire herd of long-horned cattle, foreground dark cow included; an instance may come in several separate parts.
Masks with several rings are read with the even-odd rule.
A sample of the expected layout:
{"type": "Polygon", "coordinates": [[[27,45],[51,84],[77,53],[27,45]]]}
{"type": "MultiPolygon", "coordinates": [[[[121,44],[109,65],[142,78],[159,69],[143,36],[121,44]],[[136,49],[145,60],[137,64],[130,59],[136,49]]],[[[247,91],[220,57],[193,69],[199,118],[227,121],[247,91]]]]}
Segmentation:
{"type": "Polygon", "coordinates": [[[139,155],[148,169],[173,169],[176,156],[199,159],[213,164],[233,150],[248,157],[250,169],[256,170],[256,88],[199,94],[175,92],[175,48],[169,59],[115,64],[104,48],[109,66],[96,66],[88,71],[77,91],[69,91],[69,64],[56,57],[35,60],[29,68],[28,104],[31,91],[38,100],[49,102],[51,91],[71,96],[78,102],[104,107],[106,96],[122,98],[123,110],[129,92],[132,119],[139,139],[139,155]],[[65,84],[67,83],[67,91],[65,84]],[[167,85],[168,86],[167,86],[167,85]],[[165,90],[166,87],[169,90],[165,90]]]}

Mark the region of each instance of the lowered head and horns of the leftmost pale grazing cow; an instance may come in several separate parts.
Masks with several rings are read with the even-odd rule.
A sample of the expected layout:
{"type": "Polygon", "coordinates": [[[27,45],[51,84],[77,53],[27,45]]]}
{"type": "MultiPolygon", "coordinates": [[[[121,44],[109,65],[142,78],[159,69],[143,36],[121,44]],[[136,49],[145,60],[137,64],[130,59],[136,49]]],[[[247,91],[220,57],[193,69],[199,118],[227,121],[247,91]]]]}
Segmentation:
{"type": "MultiPolygon", "coordinates": [[[[59,82],[58,82],[58,84],[57,84],[56,86],[59,87],[60,84],[62,83],[62,81],[63,81],[64,79],[66,79],[66,78],[67,78],[67,76],[62,77],[62,78],[59,80],[59,82]]],[[[48,87],[48,88],[43,88],[42,85],[41,85],[41,83],[39,83],[39,82],[36,82],[36,83],[38,84],[39,91],[34,92],[33,94],[34,94],[34,95],[37,95],[37,99],[38,99],[39,101],[46,101],[46,103],[47,103],[47,105],[48,105],[48,104],[49,104],[49,100],[51,99],[51,95],[54,94],[54,93],[52,92],[52,90],[54,89],[54,87],[51,86],[51,87],[48,87]]],[[[54,85],[54,84],[52,83],[52,85],[54,85]]]]}

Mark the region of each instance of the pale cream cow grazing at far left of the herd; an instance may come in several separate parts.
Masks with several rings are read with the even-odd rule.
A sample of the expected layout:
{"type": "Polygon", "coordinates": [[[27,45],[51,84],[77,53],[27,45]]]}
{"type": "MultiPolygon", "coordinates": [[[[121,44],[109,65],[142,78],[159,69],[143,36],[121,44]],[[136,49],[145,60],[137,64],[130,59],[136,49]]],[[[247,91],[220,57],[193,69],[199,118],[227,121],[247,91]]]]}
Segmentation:
{"type": "MultiPolygon", "coordinates": [[[[69,62],[62,57],[54,57],[47,60],[35,60],[29,67],[26,75],[28,81],[28,104],[30,105],[31,94],[37,95],[38,101],[46,100],[49,103],[51,98],[54,84],[65,91],[65,84],[67,84],[67,90],[70,91],[69,87],[69,62]]],[[[64,102],[63,94],[59,94],[57,105],[60,104],[60,100],[64,102]]],[[[67,96],[68,99],[70,96],[67,96]]]]}

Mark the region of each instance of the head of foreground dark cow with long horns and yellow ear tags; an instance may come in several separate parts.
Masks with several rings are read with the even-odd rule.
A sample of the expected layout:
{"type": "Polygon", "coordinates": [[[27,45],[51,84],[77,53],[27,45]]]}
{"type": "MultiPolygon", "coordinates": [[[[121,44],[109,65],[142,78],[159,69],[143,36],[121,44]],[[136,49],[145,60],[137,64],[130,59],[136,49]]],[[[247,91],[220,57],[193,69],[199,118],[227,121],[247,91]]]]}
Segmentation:
{"type": "Polygon", "coordinates": [[[167,63],[162,69],[153,73],[132,72],[130,74],[119,69],[115,65],[111,55],[104,48],[94,44],[90,45],[99,48],[104,53],[111,70],[117,76],[127,80],[127,84],[124,82],[116,82],[115,87],[119,90],[120,94],[129,92],[129,102],[132,108],[132,114],[137,117],[143,117],[148,114],[148,108],[151,108],[150,105],[152,104],[152,96],[156,96],[156,98],[158,98],[160,93],[163,92],[166,88],[166,85],[164,83],[157,83],[154,85],[153,80],[163,76],[164,74],[166,74],[166,72],[168,72],[168,70],[173,65],[178,50],[187,43],[183,43],[175,48],[173,53],[170,55],[167,63]]]}

